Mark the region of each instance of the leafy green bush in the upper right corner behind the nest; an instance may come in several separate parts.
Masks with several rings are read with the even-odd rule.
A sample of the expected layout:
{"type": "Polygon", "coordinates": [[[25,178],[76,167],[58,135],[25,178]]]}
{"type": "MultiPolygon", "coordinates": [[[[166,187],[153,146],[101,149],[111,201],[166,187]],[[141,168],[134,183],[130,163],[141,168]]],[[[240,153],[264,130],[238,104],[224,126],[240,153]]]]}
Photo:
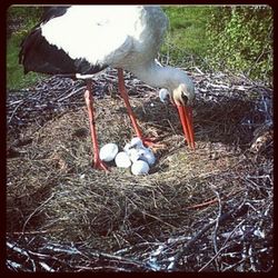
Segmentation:
{"type": "Polygon", "coordinates": [[[270,7],[212,8],[207,34],[211,66],[272,83],[274,14],[270,7]]]}

